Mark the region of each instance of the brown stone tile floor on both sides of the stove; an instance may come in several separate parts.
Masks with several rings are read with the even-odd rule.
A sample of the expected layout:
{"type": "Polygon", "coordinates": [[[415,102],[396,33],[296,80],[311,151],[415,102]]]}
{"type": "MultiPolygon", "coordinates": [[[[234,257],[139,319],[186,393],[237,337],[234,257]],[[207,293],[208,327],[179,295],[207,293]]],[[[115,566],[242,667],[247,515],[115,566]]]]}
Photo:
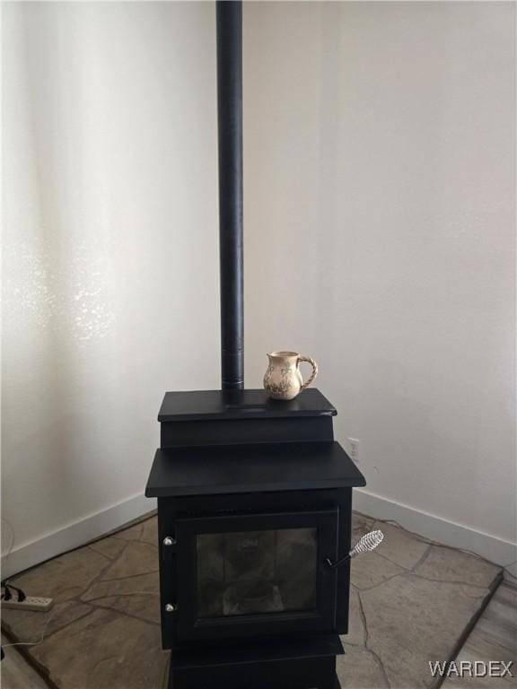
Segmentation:
{"type": "MultiPolygon", "coordinates": [[[[350,632],[338,658],[343,689],[438,685],[429,660],[452,658],[501,570],[402,528],[354,516],[354,535],[381,528],[372,554],[353,560],[350,632]]],[[[47,614],[5,610],[3,628],[58,689],[165,687],[156,519],[146,519],[13,578],[56,599],[47,614]]],[[[265,688],[266,689],[266,688],[265,688]]]]}

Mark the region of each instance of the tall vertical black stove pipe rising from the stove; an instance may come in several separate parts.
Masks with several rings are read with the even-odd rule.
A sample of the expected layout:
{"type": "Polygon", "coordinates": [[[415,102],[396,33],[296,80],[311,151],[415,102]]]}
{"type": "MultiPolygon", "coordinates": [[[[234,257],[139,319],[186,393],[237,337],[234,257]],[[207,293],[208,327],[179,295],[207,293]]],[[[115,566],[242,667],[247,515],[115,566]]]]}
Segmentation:
{"type": "Polygon", "coordinates": [[[242,3],[219,0],[216,16],[221,377],[231,390],[244,387],[242,3]]]}

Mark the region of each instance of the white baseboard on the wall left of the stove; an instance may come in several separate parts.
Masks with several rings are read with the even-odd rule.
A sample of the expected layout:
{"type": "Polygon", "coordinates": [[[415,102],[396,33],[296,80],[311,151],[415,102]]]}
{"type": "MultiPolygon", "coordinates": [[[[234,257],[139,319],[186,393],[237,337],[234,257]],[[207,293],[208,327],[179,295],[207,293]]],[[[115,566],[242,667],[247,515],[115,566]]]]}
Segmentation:
{"type": "Polygon", "coordinates": [[[143,494],[134,495],[107,510],[88,515],[38,540],[20,545],[18,548],[14,547],[9,555],[2,557],[2,579],[84,545],[155,508],[155,500],[145,498],[143,494]]]}

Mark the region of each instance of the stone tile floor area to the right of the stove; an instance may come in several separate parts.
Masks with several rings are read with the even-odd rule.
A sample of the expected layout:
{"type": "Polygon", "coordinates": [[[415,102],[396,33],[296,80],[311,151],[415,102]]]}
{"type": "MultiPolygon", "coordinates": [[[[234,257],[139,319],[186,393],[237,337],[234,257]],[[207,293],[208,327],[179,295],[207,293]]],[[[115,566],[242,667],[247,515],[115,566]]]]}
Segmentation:
{"type": "Polygon", "coordinates": [[[350,632],[338,658],[343,689],[434,686],[429,660],[447,660],[500,578],[474,555],[355,514],[354,539],[381,528],[377,550],[352,561],[350,632]]]}

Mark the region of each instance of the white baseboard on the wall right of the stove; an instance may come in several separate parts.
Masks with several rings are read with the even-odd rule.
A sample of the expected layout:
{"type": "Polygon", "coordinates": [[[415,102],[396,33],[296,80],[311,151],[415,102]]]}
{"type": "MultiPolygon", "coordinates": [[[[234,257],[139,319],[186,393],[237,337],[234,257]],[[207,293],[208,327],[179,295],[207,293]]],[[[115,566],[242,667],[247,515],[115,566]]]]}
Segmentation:
{"type": "Polygon", "coordinates": [[[517,574],[515,565],[517,544],[511,541],[504,541],[502,538],[490,536],[482,531],[463,527],[453,521],[441,519],[434,514],[416,510],[414,507],[399,502],[386,500],[380,495],[361,489],[354,491],[354,509],[375,519],[393,519],[408,531],[426,536],[444,545],[472,551],[491,563],[504,567],[513,563],[509,571],[517,574]]]}

